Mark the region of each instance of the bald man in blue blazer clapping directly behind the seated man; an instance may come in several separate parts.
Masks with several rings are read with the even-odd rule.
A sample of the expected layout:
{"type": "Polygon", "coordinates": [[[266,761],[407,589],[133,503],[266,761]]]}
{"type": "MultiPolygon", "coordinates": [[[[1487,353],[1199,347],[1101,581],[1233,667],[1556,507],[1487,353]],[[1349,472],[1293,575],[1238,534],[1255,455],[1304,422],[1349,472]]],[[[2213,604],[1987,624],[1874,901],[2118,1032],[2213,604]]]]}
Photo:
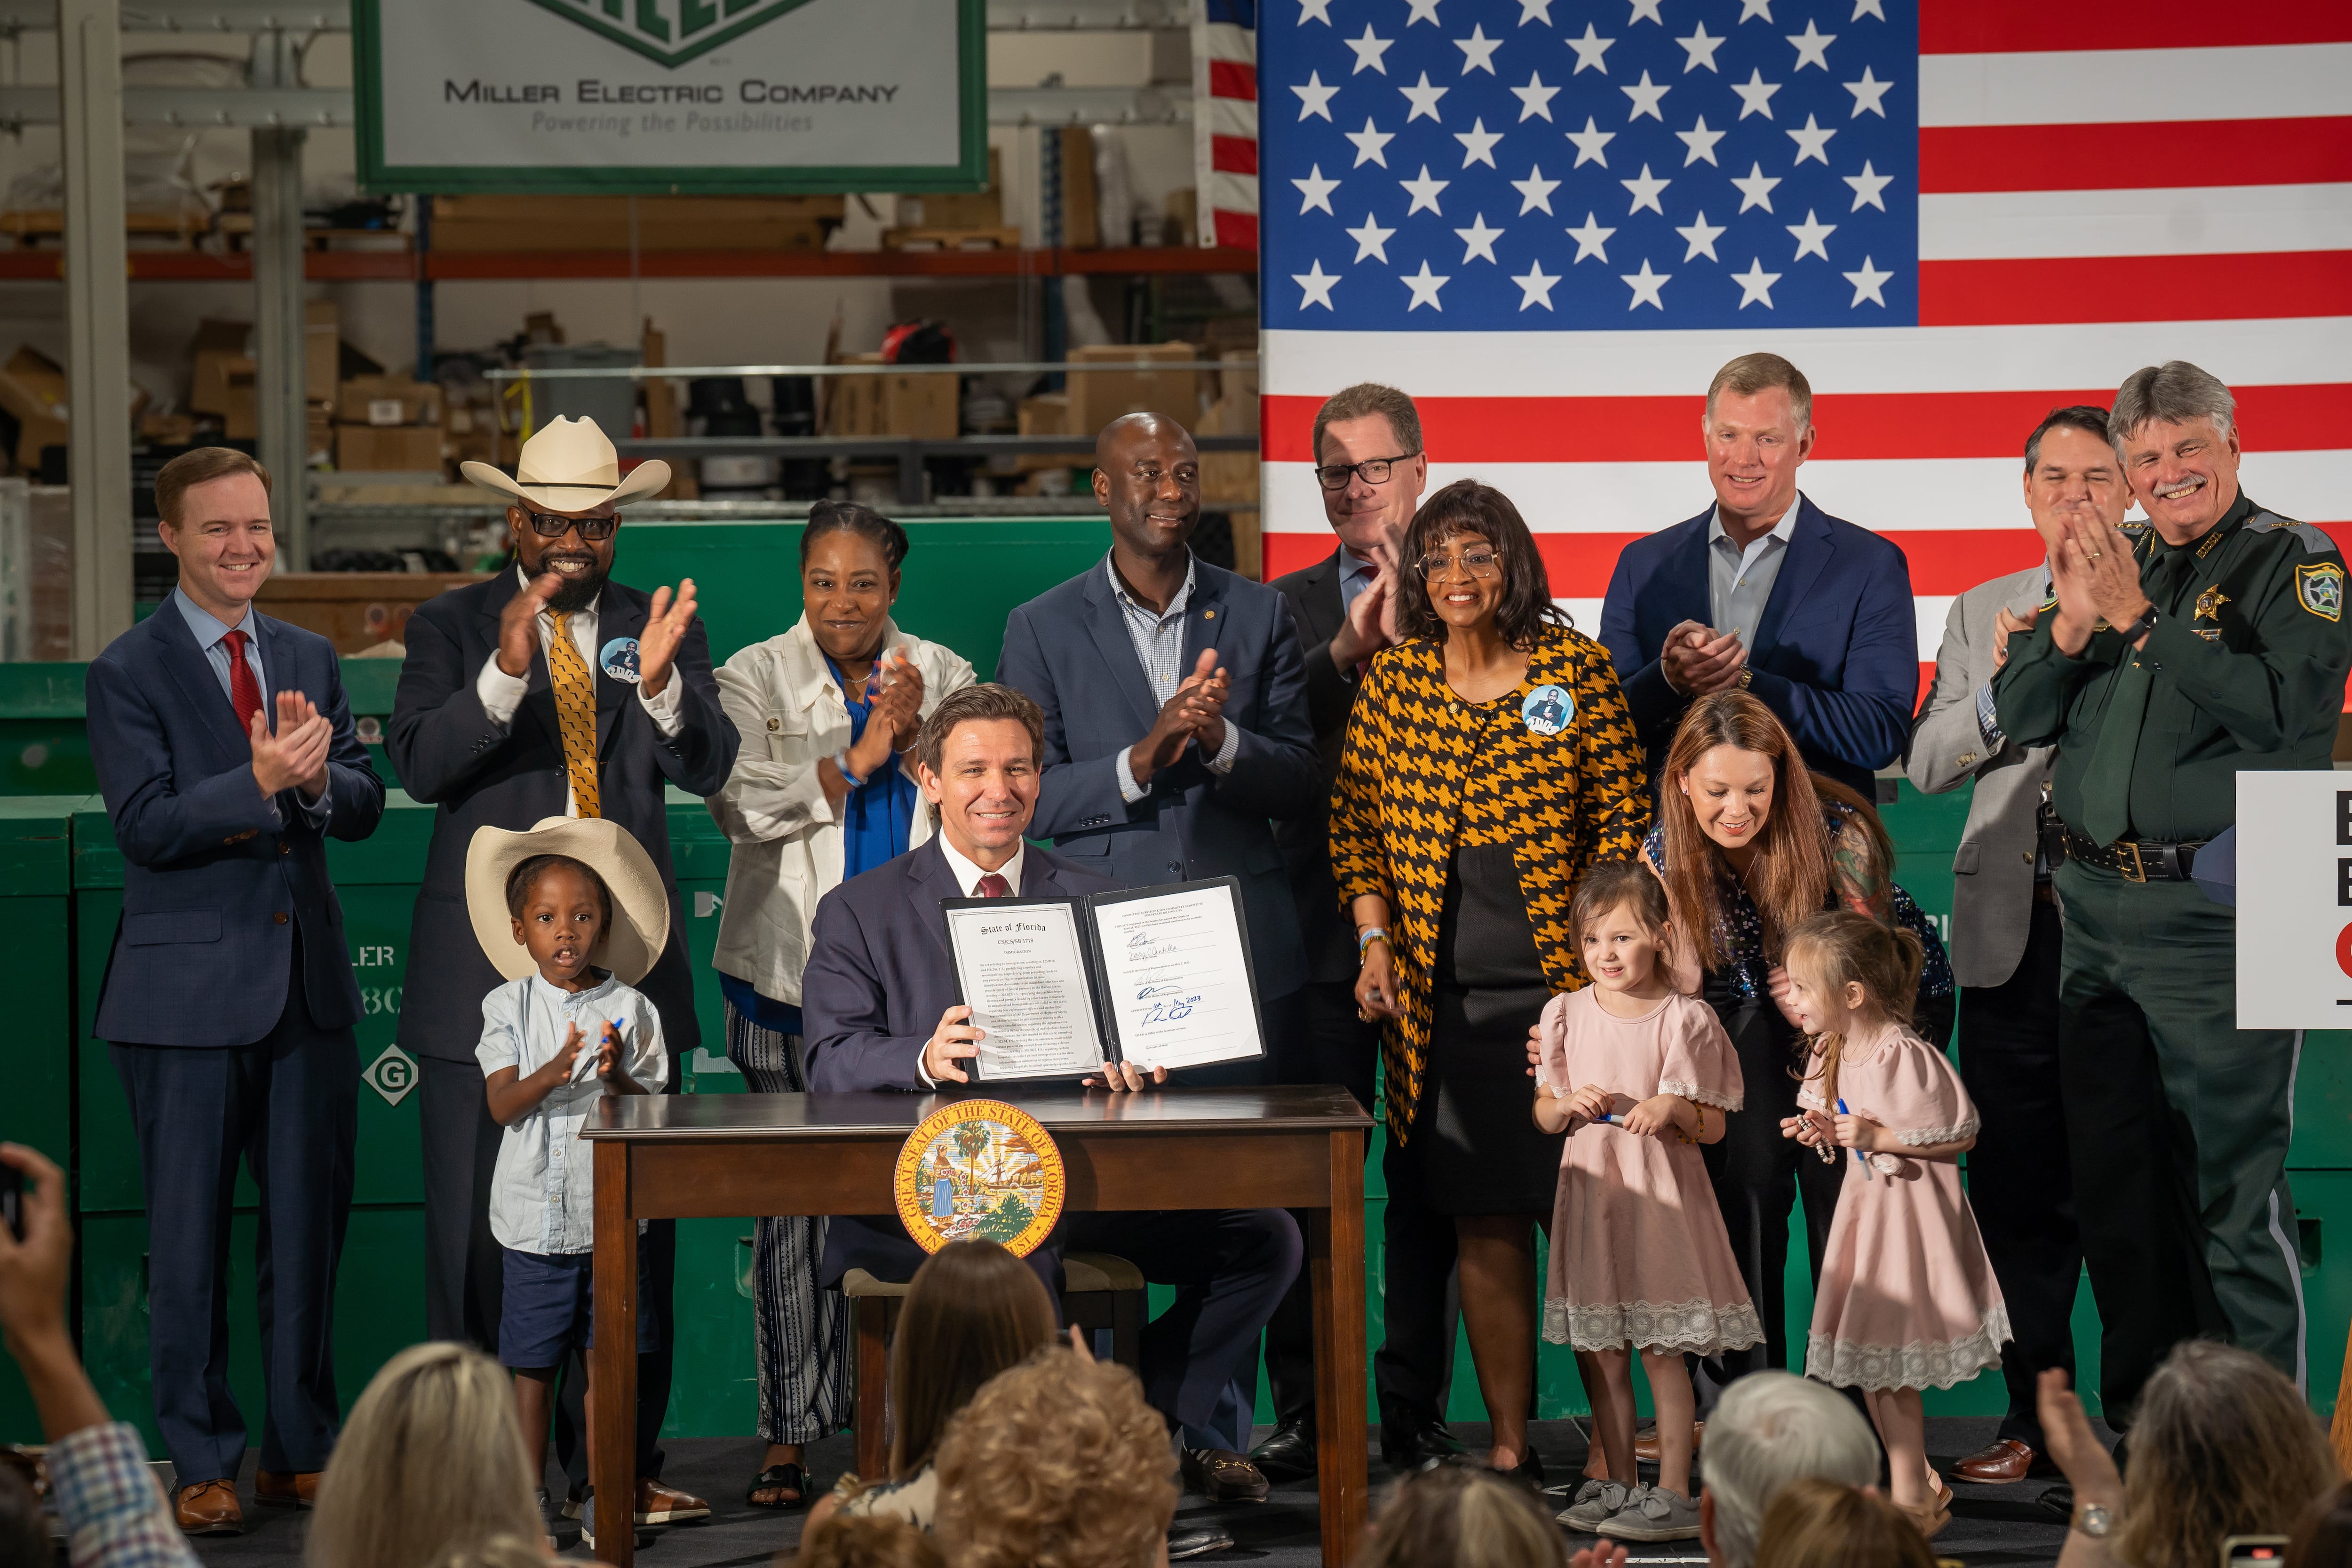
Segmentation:
{"type": "MultiPolygon", "coordinates": [[[[1265,1041],[1298,1032],[1308,952],[1270,818],[1324,795],[1289,604],[1192,555],[1200,454],[1160,414],[1094,447],[1110,555],[1014,609],[997,679],[1044,710],[1037,832],[1122,886],[1240,877],[1265,1041]]],[[[1261,1081],[1263,1063],[1188,1072],[1261,1081]]]]}

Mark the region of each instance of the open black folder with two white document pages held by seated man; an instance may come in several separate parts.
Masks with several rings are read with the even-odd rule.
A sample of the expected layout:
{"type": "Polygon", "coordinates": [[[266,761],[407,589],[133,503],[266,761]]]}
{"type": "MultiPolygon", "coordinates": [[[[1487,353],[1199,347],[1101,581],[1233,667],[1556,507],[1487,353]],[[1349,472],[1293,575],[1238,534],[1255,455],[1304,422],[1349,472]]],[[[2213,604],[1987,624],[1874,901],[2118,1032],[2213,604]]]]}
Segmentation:
{"type": "Polygon", "coordinates": [[[983,1032],[971,1077],[1265,1056],[1240,889],[1216,877],[1091,898],[941,898],[955,994],[983,1032]]]}

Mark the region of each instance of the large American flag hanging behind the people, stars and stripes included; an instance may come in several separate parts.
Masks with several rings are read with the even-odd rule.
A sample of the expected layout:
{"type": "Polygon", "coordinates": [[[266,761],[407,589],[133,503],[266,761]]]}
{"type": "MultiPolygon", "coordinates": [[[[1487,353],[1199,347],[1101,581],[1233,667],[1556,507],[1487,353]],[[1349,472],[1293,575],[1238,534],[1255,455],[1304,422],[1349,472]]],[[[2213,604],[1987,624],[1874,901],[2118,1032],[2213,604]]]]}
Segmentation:
{"type": "Polygon", "coordinates": [[[2246,489],[2352,548],[2345,0],[1263,0],[1258,99],[1268,576],[1331,550],[1317,404],[1388,381],[1592,632],[1757,348],[1922,658],[2042,555],[2025,433],[2140,364],[2230,381],[2246,489]]]}

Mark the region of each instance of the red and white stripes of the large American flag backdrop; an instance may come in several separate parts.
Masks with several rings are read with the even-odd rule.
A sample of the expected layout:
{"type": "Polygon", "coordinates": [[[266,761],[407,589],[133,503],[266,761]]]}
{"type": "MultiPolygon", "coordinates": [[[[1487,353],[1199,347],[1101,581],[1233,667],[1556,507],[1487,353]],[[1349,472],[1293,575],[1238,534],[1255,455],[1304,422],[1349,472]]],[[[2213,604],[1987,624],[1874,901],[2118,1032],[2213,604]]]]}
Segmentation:
{"type": "Polygon", "coordinates": [[[2140,364],[2227,381],[2246,491],[2352,552],[2352,5],[1922,0],[1917,327],[1265,331],[1265,571],[1331,550],[1317,402],[1388,381],[1430,484],[1508,491],[1597,630],[1618,548],[1708,508],[1703,393],[1759,348],[1813,383],[1804,491],[1910,557],[1924,658],[1952,595],[2042,555],[2027,430],[2140,364]]]}

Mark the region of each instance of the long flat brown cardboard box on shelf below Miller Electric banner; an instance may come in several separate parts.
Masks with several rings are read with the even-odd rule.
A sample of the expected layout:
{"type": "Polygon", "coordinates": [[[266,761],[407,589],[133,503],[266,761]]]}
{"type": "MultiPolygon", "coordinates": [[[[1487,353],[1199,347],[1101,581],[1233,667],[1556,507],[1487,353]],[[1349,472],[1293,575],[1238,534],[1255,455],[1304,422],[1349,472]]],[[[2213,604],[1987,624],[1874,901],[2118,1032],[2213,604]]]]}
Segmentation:
{"type": "MultiPolygon", "coordinates": [[[[840,195],[640,195],[640,252],[821,252],[840,195]]],[[[437,252],[626,252],[626,195],[437,195],[437,252]]]]}

